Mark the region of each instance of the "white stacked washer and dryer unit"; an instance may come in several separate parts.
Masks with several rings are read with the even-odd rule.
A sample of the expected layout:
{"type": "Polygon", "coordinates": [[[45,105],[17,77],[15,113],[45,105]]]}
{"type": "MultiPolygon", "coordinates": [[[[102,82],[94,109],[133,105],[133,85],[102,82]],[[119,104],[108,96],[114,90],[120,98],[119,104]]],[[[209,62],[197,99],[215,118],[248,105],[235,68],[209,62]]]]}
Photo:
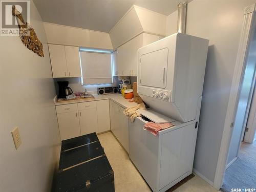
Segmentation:
{"type": "Polygon", "coordinates": [[[154,136],[148,120],[129,124],[130,158],[153,191],[165,191],[192,173],[208,40],[176,33],[138,50],[138,94],[153,122],[175,126],[154,136]]]}

